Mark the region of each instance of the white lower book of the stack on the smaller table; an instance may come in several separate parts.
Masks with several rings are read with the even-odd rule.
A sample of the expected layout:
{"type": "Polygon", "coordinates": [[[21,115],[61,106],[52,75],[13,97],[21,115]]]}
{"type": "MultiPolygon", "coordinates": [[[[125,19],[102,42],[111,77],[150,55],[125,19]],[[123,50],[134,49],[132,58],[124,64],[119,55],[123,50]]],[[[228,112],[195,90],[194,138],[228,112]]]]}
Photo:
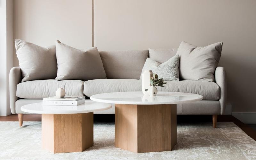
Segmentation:
{"type": "Polygon", "coordinates": [[[57,105],[57,106],[78,106],[84,103],[84,99],[72,101],[72,100],[43,100],[43,105],[57,105]]]}

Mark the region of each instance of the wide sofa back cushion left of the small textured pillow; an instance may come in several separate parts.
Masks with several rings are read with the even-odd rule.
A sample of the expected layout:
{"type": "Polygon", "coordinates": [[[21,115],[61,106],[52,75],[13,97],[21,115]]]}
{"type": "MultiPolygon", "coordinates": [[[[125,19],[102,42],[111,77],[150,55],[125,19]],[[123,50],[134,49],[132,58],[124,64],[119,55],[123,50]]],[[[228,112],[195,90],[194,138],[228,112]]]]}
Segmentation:
{"type": "Polygon", "coordinates": [[[100,51],[108,79],[140,79],[148,50],[100,51]]]}

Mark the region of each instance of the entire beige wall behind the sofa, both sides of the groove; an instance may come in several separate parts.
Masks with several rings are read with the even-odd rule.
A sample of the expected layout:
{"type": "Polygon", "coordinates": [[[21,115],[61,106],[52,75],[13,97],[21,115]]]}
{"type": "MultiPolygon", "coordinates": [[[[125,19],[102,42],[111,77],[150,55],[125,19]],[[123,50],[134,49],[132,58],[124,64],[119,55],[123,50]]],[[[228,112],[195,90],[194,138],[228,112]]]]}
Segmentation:
{"type": "MultiPolygon", "coordinates": [[[[255,6],[255,0],[95,0],[94,42],[100,50],[125,50],[223,41],[228,102],[234,112],[256,112],[255,6]]],[[[15,0],[14,7],[15,38],[92,45],[92,0],[15,0]]]]}

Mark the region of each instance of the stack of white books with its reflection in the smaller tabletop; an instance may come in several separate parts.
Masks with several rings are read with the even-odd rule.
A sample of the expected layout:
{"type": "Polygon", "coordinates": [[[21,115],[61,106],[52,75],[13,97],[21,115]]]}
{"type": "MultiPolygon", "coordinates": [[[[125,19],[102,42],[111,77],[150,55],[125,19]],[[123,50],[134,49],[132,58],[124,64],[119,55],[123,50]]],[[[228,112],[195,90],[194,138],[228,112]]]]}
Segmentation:
{"type": "Polygon", "coordinates": [[[45,110],[76,110],[78,105],[85,102],[85,97],[49,97],[43,100],[45,110]]]}

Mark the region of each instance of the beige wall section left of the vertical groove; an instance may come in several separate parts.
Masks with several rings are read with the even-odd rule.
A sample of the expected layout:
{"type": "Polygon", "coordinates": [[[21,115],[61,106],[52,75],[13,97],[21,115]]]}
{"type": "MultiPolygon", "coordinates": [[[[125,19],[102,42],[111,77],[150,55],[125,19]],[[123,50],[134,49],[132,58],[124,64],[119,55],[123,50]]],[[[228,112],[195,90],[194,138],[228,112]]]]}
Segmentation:
{"type": "MultiPolygon", "coordinates": [[[[92,46],[92,0],[14,0],[14,38],[40,46],[92,46]]],[[[13,52],[13,64],[19,66],[13,52]]]]}

